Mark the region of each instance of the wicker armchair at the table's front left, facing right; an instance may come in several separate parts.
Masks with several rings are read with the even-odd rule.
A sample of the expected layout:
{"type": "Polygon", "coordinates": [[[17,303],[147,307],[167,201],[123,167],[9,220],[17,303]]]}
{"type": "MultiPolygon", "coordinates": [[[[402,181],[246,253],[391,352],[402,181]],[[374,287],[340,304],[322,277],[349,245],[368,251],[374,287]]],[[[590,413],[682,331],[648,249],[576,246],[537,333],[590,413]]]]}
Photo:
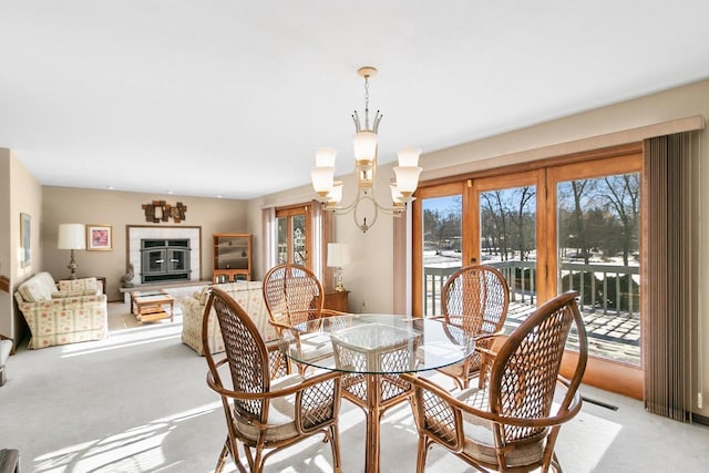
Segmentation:
{"type": "Polygon", "coordinates": [[[214,360],[205,317],[202,338],[209,367],[207,384],[222,398],[227,423],[227,438],[215,472],[224,469],[229,454],[238,470],[244,471],[238,442],[244,445],[250,471],[261,472],[271,454],[318,433],[330,442],[333,471],[340,472],[341,374],[326,372],[309,378],[289,374],[271,380],[268,349],[248,315],[216,288],[209,289],[205,313],[212,307],[224,338],[225,354],[214,360]]]}

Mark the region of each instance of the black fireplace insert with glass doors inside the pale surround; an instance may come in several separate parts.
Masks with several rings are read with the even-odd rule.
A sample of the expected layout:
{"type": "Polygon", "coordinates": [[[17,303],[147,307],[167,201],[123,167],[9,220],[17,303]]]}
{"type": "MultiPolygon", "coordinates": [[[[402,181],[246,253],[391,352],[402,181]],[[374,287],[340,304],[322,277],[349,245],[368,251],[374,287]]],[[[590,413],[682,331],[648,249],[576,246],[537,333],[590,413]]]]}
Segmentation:
{"type": "Polygon", "coordinates": [[[141,282],[189,280],[189,239],[142,239],[141,282]]]}

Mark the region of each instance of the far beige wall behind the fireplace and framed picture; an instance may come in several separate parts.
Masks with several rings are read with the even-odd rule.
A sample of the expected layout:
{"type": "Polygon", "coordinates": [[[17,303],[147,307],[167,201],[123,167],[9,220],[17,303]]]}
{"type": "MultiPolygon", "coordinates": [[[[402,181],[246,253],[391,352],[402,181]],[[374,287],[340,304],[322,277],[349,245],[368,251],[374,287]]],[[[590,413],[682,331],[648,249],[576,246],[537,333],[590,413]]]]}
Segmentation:
{"type": "Polygon", "coordinates": [[[203,280],[212,280],[212,234],[246,232],[246,203],[243,200],[44,186],[42,207],[44,270],[55,279],[69,276],[66,265],[70,258],[69,250],[56,248],[59,224],[106,224],[113,227],[112,251],[74,251],[80,277],[106,277],[109,300],[122,300],[119,288],[126,271],[126,225],[202,227],[203,280]],[[145,222],[141,206],[152,200],[182,202],[187,206],[185,220],[181,224],[145,222]]]}

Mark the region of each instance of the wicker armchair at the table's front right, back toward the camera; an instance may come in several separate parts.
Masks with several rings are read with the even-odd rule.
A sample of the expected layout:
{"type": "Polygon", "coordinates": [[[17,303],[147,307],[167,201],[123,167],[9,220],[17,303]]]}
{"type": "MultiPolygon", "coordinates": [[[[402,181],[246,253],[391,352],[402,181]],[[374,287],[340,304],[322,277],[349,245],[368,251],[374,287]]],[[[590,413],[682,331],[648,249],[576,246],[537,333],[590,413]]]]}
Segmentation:
{"type": "Polygon", "coordinates": [[[562,424],[580,410],[578,385],[588,358],[577,296],[557,296],[517,327],[497,351],[483,389],[454,395],[430,380],[402,374],[414,387],[419,473],[433,443],[480,471],[561,471],[554,445],[562,424]],[[568,380],[559,368],[572,326],[578,356],[568,380]]]}

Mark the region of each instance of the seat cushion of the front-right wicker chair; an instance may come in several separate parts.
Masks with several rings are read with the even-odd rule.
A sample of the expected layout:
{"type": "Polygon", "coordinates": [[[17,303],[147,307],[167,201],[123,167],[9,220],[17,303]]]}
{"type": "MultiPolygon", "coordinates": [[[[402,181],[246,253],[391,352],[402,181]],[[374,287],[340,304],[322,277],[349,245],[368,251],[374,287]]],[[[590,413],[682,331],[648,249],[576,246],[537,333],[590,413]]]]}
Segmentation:
{"type": "MultiPolygon", "coordinates": [[[[486,389],[466,389],[455,395],[459,400],[480,410],[487,410],[486,389]]],[[[466,455],[484,463],[496,464],[497,453],[492,432],[492,422],[475,415],[463,413],[466,455]]],[[[523,466],[542,460],[544,455],[545,434],[537,435],[526,444],[517,444],[506,455],[507,466],[523,466]]]]}

